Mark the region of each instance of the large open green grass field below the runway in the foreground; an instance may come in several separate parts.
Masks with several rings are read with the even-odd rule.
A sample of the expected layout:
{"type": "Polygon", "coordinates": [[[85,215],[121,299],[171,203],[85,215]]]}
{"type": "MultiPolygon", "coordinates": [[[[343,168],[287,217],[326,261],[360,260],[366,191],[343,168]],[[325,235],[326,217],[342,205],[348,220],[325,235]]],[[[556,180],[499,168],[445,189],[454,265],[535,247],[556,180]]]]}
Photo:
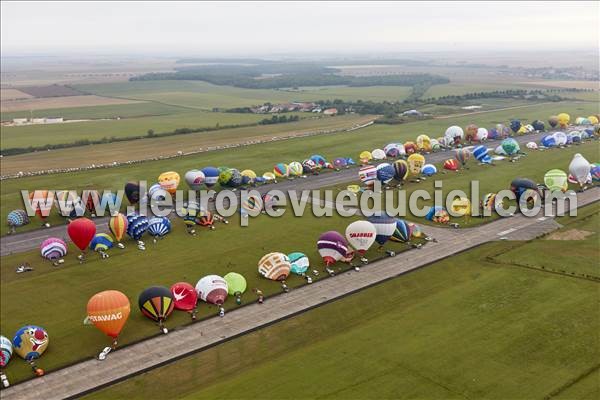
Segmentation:
{"type": "Polygon", "coordinates": [[[600,284],[487,260],[513,245],[481,246],[87,398],[598,398],[600,284]]]}

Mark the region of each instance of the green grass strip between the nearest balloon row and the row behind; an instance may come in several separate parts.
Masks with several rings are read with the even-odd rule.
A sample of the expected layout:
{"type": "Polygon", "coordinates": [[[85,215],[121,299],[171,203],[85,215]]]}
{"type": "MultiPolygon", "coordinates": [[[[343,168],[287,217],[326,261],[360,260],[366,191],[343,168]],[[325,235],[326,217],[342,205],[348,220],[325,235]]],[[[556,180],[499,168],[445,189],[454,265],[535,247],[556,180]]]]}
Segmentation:
{"type": "MultiPolygon", "coordinates": [[[[327,230],[343,232],[350,221],[342,217],[319,219],[310,212],[303,218],[295,218],[288,213],[276,223],[268,216],[259,216],[252,219],[248,227],[241,228],[236,217],[229,225],[218,224],[215,231],[199,227],[198,235],[192,237],[185,233],[183,221],[177,219],[173,222],[173,232],[163,240],[154,244],[149,237],[145,239],[145,252],[139,251],[134,241],[124,240],[127,248],[111,250],[110,259],[101,260],[99,255],[92,253],[88,255],[88,261],[80,265],[76,259],[78,249],[70,246],[65,264],[59,268],[42,260],[37,250],[2,257],[0,329],[4,335],[10,336],[25,323],[43,326],[49,332],[52,343],[40,364],[46,369],[58,368],[94,356],[107,343],[106,337],[98,330],[82,324],[87,300],[94,293],[116,289],[129,297],[132,313],[120,343],[130,343],[158,332],[157,326],[143,317],[137,308],[137,296],[144,288],[170,286],[182,280],[195,285],[202,276],[235,271],[243,274],[248,281],[244,302],[255,301],[252,288],[259,287],[265,295],[281,291],[278,282],[258,275],[257,263],[264,254],[302,251],[309,256],[313,268],[322,271],[315,279],[324,278],[327,274],[322,270],[316,240],[327,230]],[[294,229],[290,230],[290,226],[294,229]],[[273,240],[275,237],[277,241],[273,240]],[[16,274],[15,267],[24,261],[34,266],[35,271],[16,274]]],[[[398,252],[408,248],[404,244],[390,244],[388,247],[398,252]]],[[[374,259],[381,254],[373,249],[367,257],[374,259]]],[[[349,268],[346,264],[338,266],[349,268]]],[[[288,284],[295,287],[305,284],[305,281],[293,276],[288,284]]],[[[233,299],[230,298],[225,307],[235,307],[233,299]]],[[[218,312],[216,307],[207,304],[201,304],[198,310],[199,318],[218,312]]],[[[175,312],[167,326],[176,327],[189,320],[189,314],[175,312]]],[[[14,382],[30,373],[28,365],[17,359],[6,372],[14,382]]]]}

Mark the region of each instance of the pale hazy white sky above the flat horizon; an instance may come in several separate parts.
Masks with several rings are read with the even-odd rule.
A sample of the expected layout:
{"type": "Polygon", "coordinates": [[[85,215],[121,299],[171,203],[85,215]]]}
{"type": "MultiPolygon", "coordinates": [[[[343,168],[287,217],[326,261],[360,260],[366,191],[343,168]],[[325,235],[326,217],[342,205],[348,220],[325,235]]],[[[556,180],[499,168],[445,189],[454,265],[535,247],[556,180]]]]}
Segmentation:
{"type": "Polygon", "coordinates": [[[600,2],[7,2],[2,53],[598,49],[600,2]]]}

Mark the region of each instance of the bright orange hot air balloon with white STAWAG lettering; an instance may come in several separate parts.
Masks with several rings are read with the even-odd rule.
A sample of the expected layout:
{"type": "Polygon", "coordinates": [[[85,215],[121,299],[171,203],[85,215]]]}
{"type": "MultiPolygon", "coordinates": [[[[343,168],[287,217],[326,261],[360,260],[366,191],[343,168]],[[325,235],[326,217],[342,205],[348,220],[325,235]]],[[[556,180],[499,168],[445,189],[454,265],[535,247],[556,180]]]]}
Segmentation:
{"type": "Polygon", "coordinates": [[[96,293],[88,301],[88,319],[102,332],[113,338],[113,347],[123,326],[129,318],[129,299],[118,290],[105,290],[96,293]]]}

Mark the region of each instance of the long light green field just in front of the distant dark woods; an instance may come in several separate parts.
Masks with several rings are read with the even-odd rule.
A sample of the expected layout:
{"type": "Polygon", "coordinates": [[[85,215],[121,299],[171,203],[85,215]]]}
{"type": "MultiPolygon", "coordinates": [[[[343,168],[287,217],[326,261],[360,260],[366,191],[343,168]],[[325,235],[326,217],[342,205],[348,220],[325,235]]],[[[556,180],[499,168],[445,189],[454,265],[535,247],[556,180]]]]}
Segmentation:
{"type": "Polygon", "coordinates": [[[409,87],[307,87],[298,91],[243,89],[217,86],[201,81],[139,81],[101,85],[77,85],[78,89],[102,96],[153,100],[179,106],[212,110],[213,107],[233,108],[265,102],[333,100],[404,100],[409,87]]]}

